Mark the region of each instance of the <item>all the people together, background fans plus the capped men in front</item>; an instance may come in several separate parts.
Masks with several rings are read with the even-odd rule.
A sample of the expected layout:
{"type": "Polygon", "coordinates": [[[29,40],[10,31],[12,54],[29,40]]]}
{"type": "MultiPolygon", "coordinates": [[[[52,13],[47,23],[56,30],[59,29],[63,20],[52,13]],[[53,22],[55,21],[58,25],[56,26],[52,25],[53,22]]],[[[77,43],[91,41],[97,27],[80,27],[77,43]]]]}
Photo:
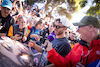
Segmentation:
{"type": "Polygon", "coordinates": [[[4,0],[0,3],[1,39],[2,36],[8,36],[9,39],[24,43],[33,52],[41,52],[42,55],[35,66],[100,67],[98,19],[85,16],[79,23],[73,23],[78,26],[80,39],[79,34],[74,33],[68,23],[64,16],[55,19],[38,6],[26,5],[19,0],[4,0]]]}

